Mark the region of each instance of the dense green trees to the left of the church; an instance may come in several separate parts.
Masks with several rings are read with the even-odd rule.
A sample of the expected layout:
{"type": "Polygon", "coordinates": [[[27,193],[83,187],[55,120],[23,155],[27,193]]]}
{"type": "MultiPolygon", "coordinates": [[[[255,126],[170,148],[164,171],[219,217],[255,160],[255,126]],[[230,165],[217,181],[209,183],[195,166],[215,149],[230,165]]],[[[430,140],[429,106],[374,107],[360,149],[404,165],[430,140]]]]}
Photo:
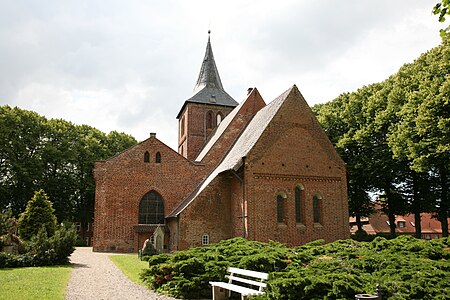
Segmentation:
{"type": "Polygon", "coordinates": [[[0,106],[0,209],[10,207],[18,216],[33,193],[44,189],[59,222],[91,222],[94,161],[135,144],[125,133],[105,134],[87,125],[0,106]]]}

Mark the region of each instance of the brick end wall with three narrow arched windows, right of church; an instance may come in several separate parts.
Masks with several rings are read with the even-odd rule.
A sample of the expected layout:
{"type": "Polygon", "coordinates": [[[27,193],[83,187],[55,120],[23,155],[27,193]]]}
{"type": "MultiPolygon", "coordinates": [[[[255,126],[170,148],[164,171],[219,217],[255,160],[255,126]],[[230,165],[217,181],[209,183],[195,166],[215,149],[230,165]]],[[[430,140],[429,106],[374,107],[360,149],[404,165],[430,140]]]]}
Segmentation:
{"type": "Polygon", "coordinates": [[[288,245],[348,238],[345,165],[298,89],[282,98],[245,157],[248,236],[288,245]]]}

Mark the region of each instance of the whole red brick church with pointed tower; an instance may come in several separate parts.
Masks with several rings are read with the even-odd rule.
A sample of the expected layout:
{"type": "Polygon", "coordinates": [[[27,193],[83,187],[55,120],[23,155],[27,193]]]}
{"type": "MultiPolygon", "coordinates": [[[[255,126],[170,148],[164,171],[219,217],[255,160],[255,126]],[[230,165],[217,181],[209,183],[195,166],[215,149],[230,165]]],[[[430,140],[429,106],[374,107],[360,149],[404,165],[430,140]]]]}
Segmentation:
{"type": "Polygon", "coordinates": [[[288,246],[350,236],[346,169],[294,85],[266,104],[222,86],[210,38],[178,149],[155,133],[95,164],[94,251],[159,252],[231,237],[288,246]]]}

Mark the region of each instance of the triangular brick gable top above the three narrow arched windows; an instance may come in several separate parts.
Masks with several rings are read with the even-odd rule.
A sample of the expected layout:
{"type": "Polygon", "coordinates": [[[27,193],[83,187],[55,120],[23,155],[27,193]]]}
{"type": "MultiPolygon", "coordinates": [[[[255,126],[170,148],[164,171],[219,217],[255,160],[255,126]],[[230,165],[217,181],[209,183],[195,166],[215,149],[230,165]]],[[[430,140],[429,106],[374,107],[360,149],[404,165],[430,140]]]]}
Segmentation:
{"type": "Polygon", "coordinates": [[[334,169],[340,174],[345,170],[344,162],[296,86],[285,94],[247,160],[263,157],[279,162],[265,164],[263,169],[267,172],[287,172],[289,166],[293,170],[304,169],[310,175],[331,174],[334,169]],[[278,157],[272,158],[274,155],[278,157]]]}

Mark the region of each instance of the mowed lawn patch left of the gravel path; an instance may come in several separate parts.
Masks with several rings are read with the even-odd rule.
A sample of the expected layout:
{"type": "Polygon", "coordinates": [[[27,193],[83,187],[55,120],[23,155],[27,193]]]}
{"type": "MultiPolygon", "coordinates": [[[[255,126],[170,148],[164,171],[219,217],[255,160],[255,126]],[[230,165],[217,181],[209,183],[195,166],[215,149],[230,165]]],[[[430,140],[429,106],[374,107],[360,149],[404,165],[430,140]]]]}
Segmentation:
{"type": "Polygon", "coordinates": [[[64,299],[70,266],[0,269],[0,299],[64,299]]]}

